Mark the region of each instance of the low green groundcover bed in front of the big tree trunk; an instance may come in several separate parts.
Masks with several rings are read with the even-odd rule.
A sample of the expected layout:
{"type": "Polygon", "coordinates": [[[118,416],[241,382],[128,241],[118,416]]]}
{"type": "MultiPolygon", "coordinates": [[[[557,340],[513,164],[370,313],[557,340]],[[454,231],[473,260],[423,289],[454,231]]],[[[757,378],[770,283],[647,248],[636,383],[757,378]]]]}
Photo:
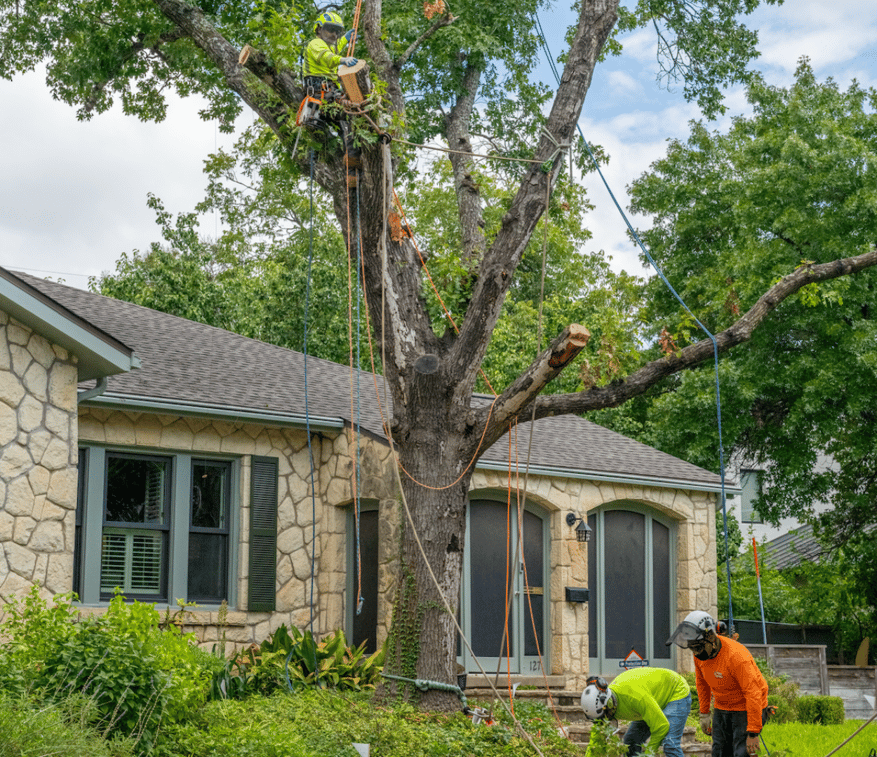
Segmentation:
{"type": "MultiPolygon", "coordinates": [[[[545,757],[584,754],[558,733],[543,705],[516,702],[515,714],[545,757]]],[[[462,712],[420,712],[408,704],[378,708],[372,692],[307,688],[209,702],[196,719],[163,729],[160,747],[174,757],[356,757],[354,742],[371,744],[371,753],[382,757],[534,754],[499,707],[495,715],[496,725],[473,725],[462,712]]]]}

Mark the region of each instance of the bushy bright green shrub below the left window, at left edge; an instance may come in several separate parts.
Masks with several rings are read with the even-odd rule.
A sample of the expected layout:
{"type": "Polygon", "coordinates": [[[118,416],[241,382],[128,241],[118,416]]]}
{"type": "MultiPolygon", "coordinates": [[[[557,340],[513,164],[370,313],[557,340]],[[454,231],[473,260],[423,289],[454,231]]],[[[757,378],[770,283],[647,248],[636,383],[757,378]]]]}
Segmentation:
{"type": "Polygon", "coordinates": [[[98,730],[140,739],[143,748],[163,720],[183,719],[206,701],[209,656],[176,627],[163,630],[153,605],[117,595],[104,615],[78,620],[72,596],[50,605],[34,587],[5,606],[3,691],[54,704],[82,695],[98,730]]]}

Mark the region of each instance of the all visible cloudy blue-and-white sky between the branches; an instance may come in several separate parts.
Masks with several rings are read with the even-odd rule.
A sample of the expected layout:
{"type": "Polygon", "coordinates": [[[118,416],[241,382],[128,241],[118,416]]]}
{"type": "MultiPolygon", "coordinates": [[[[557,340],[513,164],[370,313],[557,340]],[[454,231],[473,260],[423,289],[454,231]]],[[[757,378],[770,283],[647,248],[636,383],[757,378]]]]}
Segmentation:
{"type": "MultiPolygon", "coordinates": [[[[806,55],[820,79],[832,76],[846,86],[856,78],[877,86],[873,0],[787,0],[760,8],[749,21],[759,30],[757,67],[771,83],[789,84],[806,55]]],[[[557,34],[550,40],[556,55],[566,14],[543,15],[542,24],[557,34]]],[[[688,122],[700,114],[685,102],[681,87],[657,85],[654,32],[641,30],[622,41],[624,55],[595,72],[580,125],[611,156],[604,172],[626,206],[626,186],[663,155],[668,139],[684,139],[688,122]]],[[[726,102],[728,114],[714,128],[747,110],[740,89],[728,92],[726,102]]],[[[192,210],[206,184],[204,158],[228,142],[198,118],[197,109],[194,101],[173,102],[161,124],[141,123],[118,109],[79,123],[72,108],[52,100],[39,73],[0,80],[0,265],[85,287],[88,276],[112,270],[123,252],[147,249],[159,239],[147,193],[162,198],[171,212],[192,210]]],[[[596,205],[590,248],[610,254],[616,269],[643,272],[624,222],[598,182],[586,180],[596,205]]],[[[648,219],[633,223],[645,227],[648,219]]],[[[215,230],[209,222],[203,229],[208,236],[215,230]]]]}

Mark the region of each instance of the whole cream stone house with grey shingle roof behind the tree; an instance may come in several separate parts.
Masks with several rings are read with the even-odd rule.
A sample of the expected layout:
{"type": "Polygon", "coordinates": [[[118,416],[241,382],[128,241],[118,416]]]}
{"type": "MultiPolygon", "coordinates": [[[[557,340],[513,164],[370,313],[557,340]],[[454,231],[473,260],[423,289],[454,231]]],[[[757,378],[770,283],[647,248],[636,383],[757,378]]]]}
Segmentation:
{"type": "MultiPolygon", "coordinates": [[[[121,587],[197,602],[188,628],[205,645],[286,623],[374,648],[401,524],[376,396],[380,377],[0,269],[0,596],[39,583],[99,610],[121,587]]],[[[521,424],[520,461],[529,437],[521,424]]],[[[570,685],[633,649],[690,667],[664,642],[689,611],[716,610],[719,478],[576,416],[540,420],[509,534],[509,446],[485,453],[470,494],[460,620],[481,664],[541,680],[541,659],[570,685]]]]}

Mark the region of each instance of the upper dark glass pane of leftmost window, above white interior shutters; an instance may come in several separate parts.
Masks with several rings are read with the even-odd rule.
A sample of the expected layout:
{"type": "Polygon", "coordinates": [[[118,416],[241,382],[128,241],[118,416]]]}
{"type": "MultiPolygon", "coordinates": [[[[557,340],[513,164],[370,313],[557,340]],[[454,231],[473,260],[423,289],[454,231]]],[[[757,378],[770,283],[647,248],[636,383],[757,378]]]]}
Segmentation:
{"type": "Polygon", "coordinates": [[[107,455],[108,523],[163,525],[167,511],[168,469],[165,459],[107,455]]]}

